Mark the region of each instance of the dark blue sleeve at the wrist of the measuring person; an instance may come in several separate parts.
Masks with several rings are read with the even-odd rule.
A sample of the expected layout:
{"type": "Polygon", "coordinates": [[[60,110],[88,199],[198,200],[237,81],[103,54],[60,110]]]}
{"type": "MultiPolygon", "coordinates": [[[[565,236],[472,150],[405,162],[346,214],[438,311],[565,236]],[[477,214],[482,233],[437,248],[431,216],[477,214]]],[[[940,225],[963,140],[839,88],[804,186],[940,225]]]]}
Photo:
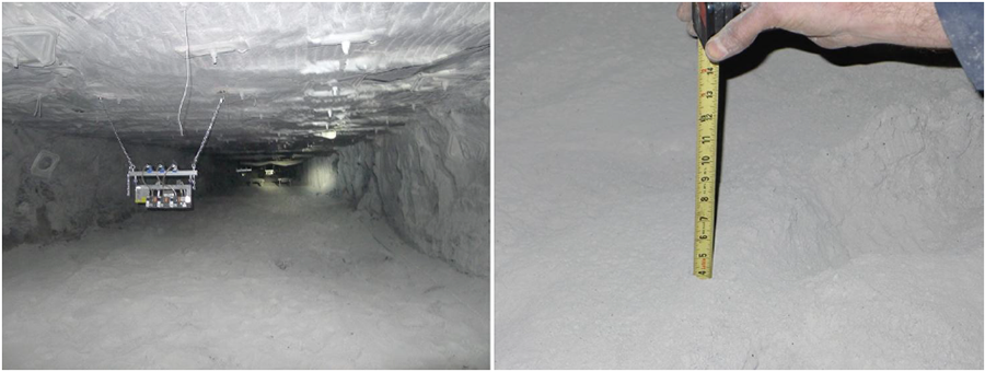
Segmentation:
{"type": "Polygon", "coordinates": [[[938,2],[937,15],[951,40],[954,55],[976,90],[982,90],[982,9],[981,2],[938,2]]]}

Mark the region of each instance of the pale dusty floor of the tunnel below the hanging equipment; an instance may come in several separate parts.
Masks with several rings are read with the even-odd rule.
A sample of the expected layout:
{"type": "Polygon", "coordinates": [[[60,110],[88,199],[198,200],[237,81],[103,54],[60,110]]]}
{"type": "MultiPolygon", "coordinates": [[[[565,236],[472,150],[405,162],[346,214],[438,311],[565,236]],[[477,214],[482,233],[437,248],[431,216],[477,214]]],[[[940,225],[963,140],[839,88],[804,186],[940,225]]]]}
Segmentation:
{"type": "Polygon", "coordinates": [[[488,301],[382,221],[268,186],[4,252],[3,368],[487,368],[488,301]]]}

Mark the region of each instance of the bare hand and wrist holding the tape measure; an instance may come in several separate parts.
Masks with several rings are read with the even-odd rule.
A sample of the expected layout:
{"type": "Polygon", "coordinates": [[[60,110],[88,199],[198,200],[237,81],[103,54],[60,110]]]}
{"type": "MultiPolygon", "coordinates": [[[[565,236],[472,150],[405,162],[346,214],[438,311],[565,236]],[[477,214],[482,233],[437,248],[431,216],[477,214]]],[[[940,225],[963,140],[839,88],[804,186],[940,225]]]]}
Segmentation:
{"type": "MultiPolygon", "coordinates": [[[[691,3],[677,7],[677,19],[691,20],[691,3]]],[[[897,44],[924,48],[950,48],[937,10],[929,2],[742,3],[737,15],[705,45],[708,59],[719,62],[745,50],[756,35],[783,28],[807,36],[823,48],[835,49],[868,44],[897,44]]]]}

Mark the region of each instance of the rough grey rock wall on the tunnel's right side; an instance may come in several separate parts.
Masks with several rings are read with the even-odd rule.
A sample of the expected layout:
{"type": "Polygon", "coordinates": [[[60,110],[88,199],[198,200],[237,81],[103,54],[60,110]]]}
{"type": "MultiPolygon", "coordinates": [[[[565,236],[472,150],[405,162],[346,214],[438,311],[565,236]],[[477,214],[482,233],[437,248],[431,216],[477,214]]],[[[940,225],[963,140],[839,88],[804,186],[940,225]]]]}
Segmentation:
{"type": "Polygon", "coordinates": [[[305,187],[351,200],[420,252],[488,276],[489,109],[459,97],[417,107],[415,116],[336,155],[308,161],[305,187]]]}

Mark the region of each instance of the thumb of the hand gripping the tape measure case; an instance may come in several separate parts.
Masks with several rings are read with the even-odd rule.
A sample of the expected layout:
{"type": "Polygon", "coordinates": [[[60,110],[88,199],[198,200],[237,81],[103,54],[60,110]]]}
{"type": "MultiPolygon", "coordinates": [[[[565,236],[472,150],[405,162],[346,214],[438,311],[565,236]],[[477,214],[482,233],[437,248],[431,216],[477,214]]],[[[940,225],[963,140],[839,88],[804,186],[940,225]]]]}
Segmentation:
{"type": "Polygon", "coordinates": [[[773,11],[762,3],[753,4],[715,34],[705,53],[711,61],[722,61],[745,50],[761,32],[775,26],[773,11]]]}

